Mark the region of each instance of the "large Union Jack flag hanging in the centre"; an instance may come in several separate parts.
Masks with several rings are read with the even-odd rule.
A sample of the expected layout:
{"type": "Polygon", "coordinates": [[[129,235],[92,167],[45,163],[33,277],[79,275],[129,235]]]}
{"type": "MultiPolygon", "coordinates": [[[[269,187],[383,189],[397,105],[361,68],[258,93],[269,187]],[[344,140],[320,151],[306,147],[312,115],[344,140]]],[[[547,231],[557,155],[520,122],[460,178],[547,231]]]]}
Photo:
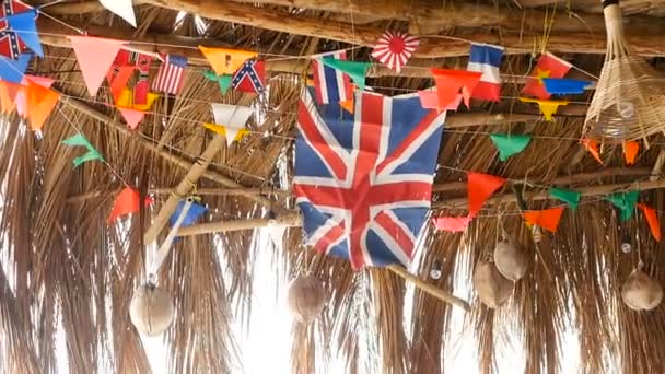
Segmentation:
{"type": "Polygon", "coordinates": [[[308,245],[364,266],[407,265],[425,222],[445,112],[418,95],[355,93],[354,117],[303,91],[293,191],[308,245]]]}

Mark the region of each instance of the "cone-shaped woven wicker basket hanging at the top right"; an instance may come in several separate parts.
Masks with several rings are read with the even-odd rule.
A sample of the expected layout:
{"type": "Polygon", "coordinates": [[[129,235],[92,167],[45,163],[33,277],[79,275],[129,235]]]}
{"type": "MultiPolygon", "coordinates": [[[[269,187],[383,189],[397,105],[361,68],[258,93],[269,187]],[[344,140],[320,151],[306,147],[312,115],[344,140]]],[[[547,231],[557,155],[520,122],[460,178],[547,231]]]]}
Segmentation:
{"type": "Polygon", "coordinates": [[[620,143],[665,131],[665,79],[632,56],[618,0],[603,1],[607,52],[586,113],[585,137],[620,143]]]}

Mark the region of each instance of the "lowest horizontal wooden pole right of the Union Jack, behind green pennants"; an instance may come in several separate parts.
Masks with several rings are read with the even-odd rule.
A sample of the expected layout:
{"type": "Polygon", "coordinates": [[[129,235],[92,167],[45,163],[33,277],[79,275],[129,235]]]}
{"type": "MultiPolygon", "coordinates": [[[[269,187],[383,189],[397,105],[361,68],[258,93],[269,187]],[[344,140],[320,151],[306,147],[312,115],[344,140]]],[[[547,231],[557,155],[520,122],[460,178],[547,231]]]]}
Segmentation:
{"type": "MultiPolygon", "coordinates": [[[[641,191],[650,190],[650,189],[658,189],[665,188],[665,179],[658,180],[645,180],[645,182],[633,182],[633,183],[620,183],[620,184],[611,184],[611,185],[602,185],[602,186],[591,186],[591,187],[579,187],[575,190],[582,196],[598,196],[598,195],[607,195],[629,189],[639,189],[641,191]]],[[[526,201],[538,201],[538,200],[549,200],[550,196],[547,190],[533,191],[524,194],[524,200],[526,201]]],[[[501,196],[493,197],[486,201],[486,204],[495,204],[495,203],[506,203],[506,202],[516,202],[517,198],[514,194],[504,194],[501,196]]],[[[464,198],[455,198],[447,199],[442,201],[432,202],[432,209],[466,209],[468,207],[468,199],[464,198]]]]}

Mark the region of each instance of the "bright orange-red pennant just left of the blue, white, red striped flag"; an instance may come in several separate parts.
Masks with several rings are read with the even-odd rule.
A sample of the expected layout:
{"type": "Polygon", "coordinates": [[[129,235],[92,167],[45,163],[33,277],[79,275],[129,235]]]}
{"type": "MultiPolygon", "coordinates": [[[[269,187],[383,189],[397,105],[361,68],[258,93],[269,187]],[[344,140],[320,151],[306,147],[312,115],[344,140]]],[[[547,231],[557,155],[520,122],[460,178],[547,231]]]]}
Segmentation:
{"type": "Polygon", "coordinates": [[[482,77],[481,72],[438,68],[430,70],[436,82],[440,108],[448,107],[453,102],[457,101],[458,94],[462,94],[464,97],[466,107],[470,106],[471,93],[476,90],[480,77],[482,77]]]}

